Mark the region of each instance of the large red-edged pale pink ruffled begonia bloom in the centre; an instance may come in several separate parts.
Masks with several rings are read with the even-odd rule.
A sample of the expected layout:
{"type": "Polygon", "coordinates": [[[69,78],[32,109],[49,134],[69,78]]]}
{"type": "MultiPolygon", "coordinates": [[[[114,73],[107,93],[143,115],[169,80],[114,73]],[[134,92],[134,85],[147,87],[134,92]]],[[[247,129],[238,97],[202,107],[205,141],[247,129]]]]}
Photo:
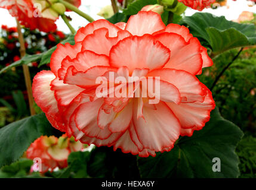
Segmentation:
{"type": "Polygon", "coordinates": [[[209,121],[215,103],[196,75],[211,65],[206,48],[189,29],[165,26],[159,14],[140,11],[127,23],[94,21],[78,30],[75,45],[59,44],[51,71],[35,76],[33,96],[51,124],[75,140],[155,156],[209,121]],[[150,104],[149,90],[146,97],[134,96],[145,90],[143,83],[112,85],[110,73],[148,84],[154,78],[160,84],[159,102],[150,104]],[[112,97],[109,90],[107,97],[98,97],[98,77],[105,77],[115,92],[122,87],[134,91],[112,97]]]}

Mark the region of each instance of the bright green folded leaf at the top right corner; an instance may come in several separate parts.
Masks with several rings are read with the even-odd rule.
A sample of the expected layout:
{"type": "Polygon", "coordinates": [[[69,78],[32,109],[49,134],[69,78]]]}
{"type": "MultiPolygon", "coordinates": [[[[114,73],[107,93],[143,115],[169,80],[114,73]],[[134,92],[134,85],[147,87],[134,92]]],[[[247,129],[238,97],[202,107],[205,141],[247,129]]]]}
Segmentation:
{"type": "Polygon", "coordinates": [[[256,44],[254,24],[234,23],[224,16],[196,12],[191,17],[184,17],[180,24],[188,25],[193,36],[208,42],[215,55],[235,47],[256,44]]]}

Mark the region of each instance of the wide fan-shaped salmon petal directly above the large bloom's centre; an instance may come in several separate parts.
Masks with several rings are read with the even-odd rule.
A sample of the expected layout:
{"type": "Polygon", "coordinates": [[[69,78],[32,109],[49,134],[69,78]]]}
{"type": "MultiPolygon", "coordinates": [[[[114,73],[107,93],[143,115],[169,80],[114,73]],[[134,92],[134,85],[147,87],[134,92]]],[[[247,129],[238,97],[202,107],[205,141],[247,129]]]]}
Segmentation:
{"type": "Polygon", "coordinates": [[[162,68],[168,62],[169,55],[168,48],[146,34],[121,40],[110,50],[109,59],[111,66],[127,66],[132,73],[135,68],[162,68]]]}

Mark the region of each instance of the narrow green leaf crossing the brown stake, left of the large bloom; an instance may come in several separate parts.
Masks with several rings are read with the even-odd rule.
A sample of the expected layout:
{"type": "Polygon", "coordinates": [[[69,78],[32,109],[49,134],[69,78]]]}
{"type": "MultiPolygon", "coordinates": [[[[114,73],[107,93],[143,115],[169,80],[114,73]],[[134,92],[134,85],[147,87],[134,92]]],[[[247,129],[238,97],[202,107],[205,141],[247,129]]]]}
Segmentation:
{"type": "MultiPolygon", "coordinates": [[[[75,44],[75,40],[74,40],[74,35],[70,35],[69,37],[67,37],[66,40],[63,40],[61,42],[61,44],[65,44],[65,43],[70,43],[70,45],[74,45],[75,44]]],[[[54,50],[57,48],[57,46],[52,47],[51,49],[47,50],[46,52],[43,53],[39,53],[36,55],[25,55],[22,59],[20,59],[19,61],[14,62],[13,64],[6,66],[5,68],[1,69],[0,74],[4,71],[7,71],[15,66],[20,66],[20,65],[26,65],[26,64],[30,64],[31,62],[38,62],[40,61],[39,66],[45,65],[45,64],[49,64],[50,63],[50,59],[51,59],[51,54],[53,54],[54,50]]]]}

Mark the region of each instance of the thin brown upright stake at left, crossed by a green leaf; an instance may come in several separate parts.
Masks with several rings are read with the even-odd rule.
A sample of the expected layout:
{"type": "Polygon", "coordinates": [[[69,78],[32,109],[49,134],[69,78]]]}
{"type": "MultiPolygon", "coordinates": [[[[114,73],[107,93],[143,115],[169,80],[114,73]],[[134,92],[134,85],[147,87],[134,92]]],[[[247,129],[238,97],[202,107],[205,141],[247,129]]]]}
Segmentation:
{"type": "MultiPolygon", "coordinates": [[[[23,56],[25,56],[25,54],[26,54],[26,47],[25,47],[25,43],[24,43],[23,34],[21,33],[20,23],[18,22],[18,20],[16,20],[16,21],[17,21],[17,30],[18,30],[18,41],[20,42],[20,56],[21,56],[21,58],[23,58],[23,56]]],[[[23,74],[24,74],[26,88],[27,88],[27,96],[29,98],[30,115],[35,115],[36,112],[33,107],[34,100],[33,100],[33,94],[32,94],[29,66],[23,64],[22,68],[23,68],[23,74]]]]}

